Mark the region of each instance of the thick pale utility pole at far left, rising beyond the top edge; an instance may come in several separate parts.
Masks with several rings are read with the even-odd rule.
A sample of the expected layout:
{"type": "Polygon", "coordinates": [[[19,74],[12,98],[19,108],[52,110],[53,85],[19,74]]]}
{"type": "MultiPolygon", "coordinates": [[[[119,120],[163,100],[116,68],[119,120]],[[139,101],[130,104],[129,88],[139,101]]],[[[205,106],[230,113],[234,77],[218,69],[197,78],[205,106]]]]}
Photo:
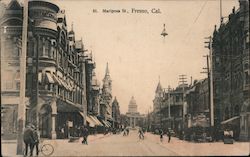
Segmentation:
{"type": "Polygon", "coordinates": [[[28,0],[23,4],[23,29],[22,29],[22,53],[20,58],[20,103],[18,105],[18,137],[17,137],[17,155],[23,154],[23,130],[26,122],[26,55],[27,55],[27,32],[28,32],[28,0]]]}

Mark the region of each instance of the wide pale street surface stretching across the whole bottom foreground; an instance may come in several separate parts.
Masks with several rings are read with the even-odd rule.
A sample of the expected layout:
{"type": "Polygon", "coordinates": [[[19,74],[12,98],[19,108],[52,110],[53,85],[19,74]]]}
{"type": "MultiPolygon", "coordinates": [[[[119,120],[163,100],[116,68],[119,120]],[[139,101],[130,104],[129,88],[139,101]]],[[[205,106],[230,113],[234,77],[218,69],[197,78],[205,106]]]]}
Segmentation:
{"type": "MultiPolygon", "coordinates": [[[[204,155],[249,155],[250,144],[235,142],[234,144],[192,143],[172,138],[167,142],[164,137],[151,133],[145,134],[144,140],[139,140],[136,130],[130,131],[128,136],[101,135],[89,136],[89,144],[77,142],[69,143],[68,140],[46,140],[51,143],[55,152],[52,156],[204,156],[204,155]]],[[[2,155],[14,156],[16,144],[2,143],[2,155]]],[[[35,154],[35,153],[34,153],[35,154]]]]}

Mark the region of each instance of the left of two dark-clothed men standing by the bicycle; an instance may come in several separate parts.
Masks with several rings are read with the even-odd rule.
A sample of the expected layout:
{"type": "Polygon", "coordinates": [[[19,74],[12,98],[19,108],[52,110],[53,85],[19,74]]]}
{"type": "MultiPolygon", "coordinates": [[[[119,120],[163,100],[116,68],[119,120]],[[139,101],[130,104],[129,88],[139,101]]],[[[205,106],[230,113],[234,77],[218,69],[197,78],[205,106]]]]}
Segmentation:
{"type": "Polygon", "coordinates": [[[28,155],[28,149],[30,148],[30,156],[33,156],[33,145],[35,143],[32,124],[28,124],[23,133],[23,142],[25,143],[25,156],[28,155]]]}

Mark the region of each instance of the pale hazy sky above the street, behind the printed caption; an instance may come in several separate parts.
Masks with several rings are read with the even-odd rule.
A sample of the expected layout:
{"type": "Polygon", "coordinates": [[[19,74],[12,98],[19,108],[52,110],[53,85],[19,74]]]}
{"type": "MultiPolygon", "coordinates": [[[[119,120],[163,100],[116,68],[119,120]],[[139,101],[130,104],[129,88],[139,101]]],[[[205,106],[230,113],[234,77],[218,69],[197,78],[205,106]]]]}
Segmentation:
{"type": "MultiPolygon", "coordinates": [[[[238,0],[222,0],[223,16],[239,6],[238,0]]],[[[113,80],[113,96],[122,113],[135,97],[138,110],[147,113],[153,106],[159,82],[164,88],[178,85],[180,74],[188,83],[205,78],[201,74],[208,54],[204,37],[212,35],[219,23],[219,0],[166,1],[85,1],[56,0],[66,11],[68,30],[74,24],[76,38],[82,37],[86,49],[92,50],[100,82],[109,63],[113,80]],[[131,9],[147,9],[149,14],[131,13],[131,9]],[[150,13],[152,8],[161,14],[150,13]],[[98,13],[93,13],[97,9],[98,13]],[[102,9],[126,9],[129,13],[102,13],[102,9]],[[160,35],[166,24],[169,34],[160,35]]]]}

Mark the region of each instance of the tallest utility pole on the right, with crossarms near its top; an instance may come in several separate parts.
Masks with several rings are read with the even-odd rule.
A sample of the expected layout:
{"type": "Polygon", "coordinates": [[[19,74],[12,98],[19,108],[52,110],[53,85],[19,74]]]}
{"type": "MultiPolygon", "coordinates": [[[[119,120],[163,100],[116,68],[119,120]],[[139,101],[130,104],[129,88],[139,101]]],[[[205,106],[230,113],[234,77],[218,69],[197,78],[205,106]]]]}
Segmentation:
{"type": "Polygon", "coordinates": [[[212,56],[212,37],[206,37],[205,39],[208,39],[209,41],[205,41],[205,44],[208,44],[208,46],[205,46],[205,48],[209,49],[209,57],[207,57],[208,62],[208,76],[209,76],[209,98],[210,98],[210,124],[211,127],[214,126],[214,95],[213,95],[213,56],[212,56]],[[208,59],[209,58],[209,59],[208,59]],[[210,68],[209,68],[209,62],[210,62],[210,68]]]}

